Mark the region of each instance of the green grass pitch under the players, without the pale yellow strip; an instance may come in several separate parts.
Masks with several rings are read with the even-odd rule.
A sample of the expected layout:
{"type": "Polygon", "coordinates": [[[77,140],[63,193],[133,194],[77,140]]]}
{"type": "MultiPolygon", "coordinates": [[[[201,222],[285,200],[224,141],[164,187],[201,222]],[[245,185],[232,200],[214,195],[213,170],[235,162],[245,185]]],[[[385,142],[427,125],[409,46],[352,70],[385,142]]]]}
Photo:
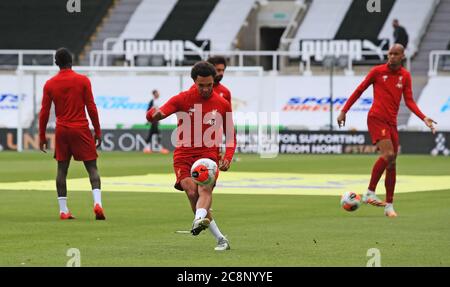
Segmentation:
{"type": "MultiPolygon", "coordinates": [[[[238,155],[229,172],[370,174],[376,156],[238,155]]],[[[400,155],[399,175],[450,175],[449,157],[400,155]]],[[[171,155],[102,153],[101,176],[172,173],[171,155]]],[[[51,154],[0,153],[2,182],[55,177],[51,154]]],[[[87,175],[72,162],[69,178],[87,175]]],[[[167,182],[173,185],[173,182],[167,182]]],[[[356,191],[362,193],[363,191],[356,191]]],[[[274,191],[276,193],[276,191],[274,191]]],[[[383,179],[378,194],[384,197],[383,179]]],[[[0,190],[0,266],[66,266],[80,250],[82,266],[366,266],[378,248],[382,266],[450,266],[450,190],[395,196],[399,217],[362,206],[353,213],[336,196],[216,194],[213,214],[231,250],[214,251],[209,231],[188,230],[186,196],[173,193],[103,193],[107,220],[96,222],[92,195],[68,191],[77,217],[58,219],[56,191],[0,190]]]]}

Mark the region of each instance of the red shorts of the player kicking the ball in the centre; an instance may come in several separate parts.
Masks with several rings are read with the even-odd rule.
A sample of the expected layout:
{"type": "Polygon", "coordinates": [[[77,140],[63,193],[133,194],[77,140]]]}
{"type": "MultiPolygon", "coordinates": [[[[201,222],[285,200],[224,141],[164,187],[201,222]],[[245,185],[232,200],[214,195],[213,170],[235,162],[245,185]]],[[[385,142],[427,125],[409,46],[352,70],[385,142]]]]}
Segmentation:
{"type": "Polygon", "coordinates": [[[201,158],[209,158],[216,162],[217,166],[219,166],[218,162],[218,154],[215,153],[204,153],[199,155],[185,155],[178,154],[173,156],[173,169],[175,171],[175,175],[177,177],[177,181],[175,182],[174,187],[178,190],[183,191],[181,187],[181,180],[191,177],[191,167],[197,160],[201,158]]]}

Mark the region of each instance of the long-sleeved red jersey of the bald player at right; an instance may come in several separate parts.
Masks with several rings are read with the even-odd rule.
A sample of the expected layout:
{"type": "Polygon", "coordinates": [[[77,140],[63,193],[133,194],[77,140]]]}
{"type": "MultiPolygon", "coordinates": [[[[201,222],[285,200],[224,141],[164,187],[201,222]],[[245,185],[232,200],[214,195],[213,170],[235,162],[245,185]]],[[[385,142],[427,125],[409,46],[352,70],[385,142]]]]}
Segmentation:
{"type": "Polygon", "coordinates": [[[388,64],[372,68],[364,81],[356,88],[348,99],[343,112],[348,112],[351,106],[358,100],[361,94],[373,85],[373,104],[369,116],[374,116],[389,124],[397,125],[397,115],[400,108],[402,95],[406,106],[420,119],[425,115],[417,107],[412,96],[411,75],[403,67],[394,71],[388,64]]]}

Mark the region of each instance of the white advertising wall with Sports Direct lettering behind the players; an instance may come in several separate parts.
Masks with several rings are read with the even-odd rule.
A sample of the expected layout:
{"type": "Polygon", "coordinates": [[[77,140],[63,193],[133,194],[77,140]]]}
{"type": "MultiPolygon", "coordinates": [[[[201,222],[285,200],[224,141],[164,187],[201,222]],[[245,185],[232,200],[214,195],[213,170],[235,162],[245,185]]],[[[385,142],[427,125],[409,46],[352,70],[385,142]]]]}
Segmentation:
{"type": "MultiPolygon", "coordinates": [[[[29,128],[36,122],[42,89],[49,75],[25,75],[21,82],[22,126],[29,128]]],[[[187,76],[100,75],[90,76],[93,93],[104,129],[136,128],[146,124],[145,113],[151,91],[158,89],[161,103],[193,83],[187,76]]],[[[279,125],[296,130],[338,130],[335,118],[362,76],[335,76],[333,100],[330,98],[328,76],[226,76],[223,83],[232,91],[233,111],[238,125],[256,125],[257,112],[279,113],[279,125]],[[330,103],[333,102],[333,114],[330,103]]],[[[419,106],[438,122],[440,131],[450,131],[450,77],[430,80],[419,100],[419,106]]],[[[0,128],[18,125],[19,96],[15,75],[0,75],[0,128]]],[[[373,101],[372,88],[366,90],[348,113],[344,130],[366,131],[367,112],[373,101]]],[[[176,124],[171,116],[163,125],[176,124]]],[[[426,131],[420,121],[411,116],[408,127],[426,131]]],[[[400,127],[404,129],[405,127],[400,127]]]]}

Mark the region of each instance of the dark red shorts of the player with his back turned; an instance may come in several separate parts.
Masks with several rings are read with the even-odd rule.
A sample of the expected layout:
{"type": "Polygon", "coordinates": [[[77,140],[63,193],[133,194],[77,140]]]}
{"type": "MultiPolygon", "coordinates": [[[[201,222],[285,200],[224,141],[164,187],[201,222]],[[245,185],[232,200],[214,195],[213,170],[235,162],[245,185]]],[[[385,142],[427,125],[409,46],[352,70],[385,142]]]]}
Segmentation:
{"type": "Polygon", "coordinates": [[[97,158],[95,140],[89,128],[57,126],[55,131],[55,155],[57,161],[89,161],[97,158]]]}

